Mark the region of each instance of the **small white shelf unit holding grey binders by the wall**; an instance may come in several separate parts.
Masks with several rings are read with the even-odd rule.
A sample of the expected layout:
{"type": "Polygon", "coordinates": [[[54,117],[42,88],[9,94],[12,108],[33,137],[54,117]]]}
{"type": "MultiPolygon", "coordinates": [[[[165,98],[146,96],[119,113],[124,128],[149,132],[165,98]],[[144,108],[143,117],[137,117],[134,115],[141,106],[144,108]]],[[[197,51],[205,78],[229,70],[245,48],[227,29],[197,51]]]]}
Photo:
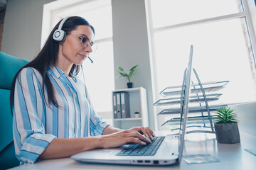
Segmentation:
{"type": "MultiPolygon", "coordinates": [[[[119,89],[112,91],[112,97],[117,92],[127,92],[129,94],[129,107],[131,118],[114,119],[114,109],[112,108],[113,125],[115,128],[129,129],[134,126],[149,126],[147,111],[146,89],[143,87],[131,89],[119,89]],[[134,112],[139,112],[139,118],[135,118],[134,112]]],[[[113,102],[113,101],[112,101],[113,102]]],[[[113,105],[112,105],[113,106],[113,105]]]]}

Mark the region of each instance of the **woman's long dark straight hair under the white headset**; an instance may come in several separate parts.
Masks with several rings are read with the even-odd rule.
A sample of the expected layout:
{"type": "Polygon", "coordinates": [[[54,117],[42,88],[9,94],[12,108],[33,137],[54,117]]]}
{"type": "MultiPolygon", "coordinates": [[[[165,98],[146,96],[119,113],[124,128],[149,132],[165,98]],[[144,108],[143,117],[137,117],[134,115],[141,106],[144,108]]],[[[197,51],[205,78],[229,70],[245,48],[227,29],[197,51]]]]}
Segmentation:
{"type": "MultiPolygon", "coordinates": [[[[48,74],[46,72],[46,69],[50,65],[54,65],[56,63],[57,57],[58,57],[58,43],[57,41],[53,40],[53,33],[54,31],[58,28],[60,25],[59,21],[57,25],[53,28],[51,31],[50,35],[48,36],[48,39],[46,40],[46,44],[43,46],[43,49],[38,53],[36,58],[26,64],[23,68],[26,67],[33,67],[38,70],[38,72],[41,73],[43,77],[43,96],[44,95],[44,89],[46,86],[47,89],[47,94],[48,94],[48,102],[46,104],[53,103],[53,105],[58,106],[57,101],[55,100],[55,96],[53,93],[53,84],[50,82],[50,79],[48,77],[48,74]]],[[[77,26],[90,26],[92,28],[92,32],[95,34],[95,29],[88,23],[88,21],[85,20],[85,18],[79,17],[79,16],[72,16],[68,18],[67,21],[63,24],[62,30],[65,31],[66,34],[70,33],[72,30],[75,30],[77,26]]],[[[18,74],[21,72],[21,69],[18,70],[16,73],[14,80],[12,81],[11,84],[11,94],[10,94],[10,103],[11,103],[11,110],[14,106],[14,87],[16,83],[16,79],[18,77],[18,74]]],[[[74,75],[77,75],[78,72],[80,71],[80,66],[73,64],[73,67],[71,68],[70,72],[74,75]]]]}

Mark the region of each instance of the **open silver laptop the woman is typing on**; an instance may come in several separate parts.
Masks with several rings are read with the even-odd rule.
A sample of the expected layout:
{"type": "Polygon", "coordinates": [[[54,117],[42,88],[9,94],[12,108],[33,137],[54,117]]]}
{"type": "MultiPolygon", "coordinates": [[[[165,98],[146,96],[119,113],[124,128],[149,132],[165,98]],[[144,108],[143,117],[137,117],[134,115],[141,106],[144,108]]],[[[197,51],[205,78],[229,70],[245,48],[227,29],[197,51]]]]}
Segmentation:
{"type": "Polygon", "coordinates": [[[155,137],[159,143],[152,147],[154,149],[153,155],[125,154],[126,152],[130,152],[129,148],[131,147],[133,149],[135,147],[146,146],[132,144],[110,149],[92,149],[75,154],[71,158],[78,162],[90,164],[131,164],[150,166],[179,164],[183,154],[184,136],[186,134],[188,97],[191,86],[192,56],[193,46],[191,45],[188,67],[185,69],[183,85],[181,88],[181,123],[177,136],[167,135],[165,137],[155,137]],[[157,150],[156,147],[158,147],[157,150]]]}

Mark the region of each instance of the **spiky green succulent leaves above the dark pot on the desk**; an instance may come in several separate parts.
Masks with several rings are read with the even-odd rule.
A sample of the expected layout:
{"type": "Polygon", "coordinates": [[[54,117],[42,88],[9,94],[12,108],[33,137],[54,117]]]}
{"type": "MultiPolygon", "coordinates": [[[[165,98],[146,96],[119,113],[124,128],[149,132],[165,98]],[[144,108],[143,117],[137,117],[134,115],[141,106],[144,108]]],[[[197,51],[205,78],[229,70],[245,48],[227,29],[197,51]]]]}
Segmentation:
{"type": "Polygon", "coordinates": [[[216,114],[218,119],[215,123],[238,123],[238,113],[232,108],[219,108],[216,114]]]}

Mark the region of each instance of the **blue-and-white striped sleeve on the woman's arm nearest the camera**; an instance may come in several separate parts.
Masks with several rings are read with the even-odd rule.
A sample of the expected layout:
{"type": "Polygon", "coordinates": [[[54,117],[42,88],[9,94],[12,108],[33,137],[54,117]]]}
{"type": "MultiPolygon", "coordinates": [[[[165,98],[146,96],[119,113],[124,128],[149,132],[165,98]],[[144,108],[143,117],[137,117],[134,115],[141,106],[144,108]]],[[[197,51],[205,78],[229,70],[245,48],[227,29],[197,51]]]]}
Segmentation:
{"type": "Polygon", "coordinates": [[[46,106],[41,83],[32,68],[22,69],[14,89],[14,146],[18,160],[34,163],[54,135],[46,134],[46,106]]]}

